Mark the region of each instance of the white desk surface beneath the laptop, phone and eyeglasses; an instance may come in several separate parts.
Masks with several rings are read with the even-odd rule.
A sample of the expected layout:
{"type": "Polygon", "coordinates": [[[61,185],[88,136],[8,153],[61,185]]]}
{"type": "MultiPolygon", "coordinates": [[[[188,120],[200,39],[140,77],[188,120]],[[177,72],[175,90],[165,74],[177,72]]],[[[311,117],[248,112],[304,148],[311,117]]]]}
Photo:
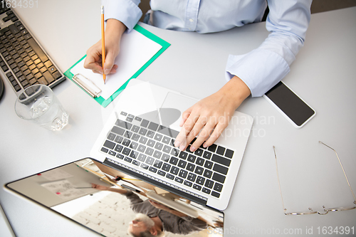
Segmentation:
{"type": "MultiPolygon", "coordinates": [[[[15,9],[64,72],[100,39],[100,1],[38,1],[38,8],[15,9]],[[94,16],[94,17],[93,17],[94,16]]],[[[263,98],[239,107],[255,117],[234,193],[225,213],[225,235],[320,234],[324,226],[356,228],[356,210],[326,216],[285,216],[278,191],[273,148],[278,154],[283,199],[288,211],[321,211],[352,206],[352,195],[335,153],[356,191],[356,8],[313,14],[305,46],[283,80],[317,115],[296,130],[263,98]]],[[[265,23],[201,35],[146,26],[172,43],[140,76],[180,93],[204,98],[224,83],[226,59],[248,53],[268,35],[265,23]],[[201,89],[197,89],[201,88],[201,89]]],[[[54,89],[70,115],[61,132],[16,117],[15,93],[5,80],[0,102],[0,184],[88,157],[112,105],[103,109],[67,80],[54,89]],[[36,138],[36,139],[35,139],[36,138]]],[[[0,190],[1,206],[16,236],[98,236],[91,231],[0,190]]],[[[328,228],[329,230],[329,228],[328,228]]],[[[329,236],[335,235],[328,234],[329,236]]]]}

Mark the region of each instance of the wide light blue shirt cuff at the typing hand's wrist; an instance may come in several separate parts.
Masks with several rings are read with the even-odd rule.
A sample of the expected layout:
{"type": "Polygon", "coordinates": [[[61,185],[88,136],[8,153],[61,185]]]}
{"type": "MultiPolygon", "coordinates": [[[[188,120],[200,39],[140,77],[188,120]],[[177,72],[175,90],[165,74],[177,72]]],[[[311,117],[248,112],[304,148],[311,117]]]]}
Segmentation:
{"type": "Polygon", "coordinates": [[[278,53],[257,48],[250,53],[229,55],[226,80],[235,75],[248,86],[252,97],[264,95],[290,71],[289,65],[278,53]]]}

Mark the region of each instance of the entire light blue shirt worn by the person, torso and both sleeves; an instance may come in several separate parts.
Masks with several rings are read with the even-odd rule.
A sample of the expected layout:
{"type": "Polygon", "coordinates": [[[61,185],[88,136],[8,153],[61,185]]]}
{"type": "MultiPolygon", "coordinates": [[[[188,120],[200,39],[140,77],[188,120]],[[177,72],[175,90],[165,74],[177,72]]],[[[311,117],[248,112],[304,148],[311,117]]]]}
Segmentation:
{"type": "MultiPolygon", "coordinates": [[[[140,0],[102,0],[105,20],[117,19],[131,31],[142,16],[140,0]]],[[[255,50],[230,55],[226,79],[237,75],[253,97],[282,80],[304,44],[311,0],[151,0],[150,23],[177,31],[211,33],[261,21],[268,2],[266,28],[271,33],[255,50]]]]}

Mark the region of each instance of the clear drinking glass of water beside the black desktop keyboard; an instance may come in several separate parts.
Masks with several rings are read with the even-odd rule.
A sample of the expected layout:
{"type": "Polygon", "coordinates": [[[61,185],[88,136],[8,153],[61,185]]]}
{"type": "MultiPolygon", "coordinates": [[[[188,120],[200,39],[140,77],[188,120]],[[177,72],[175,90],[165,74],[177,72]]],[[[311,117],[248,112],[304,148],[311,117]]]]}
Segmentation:
{"type": "Polygon", "coordinates": [[[58,131],[68,125],[68,114],[51,88],[32,85],[26,88],[15,103],[16,114],[48,130],[58,131]]]}

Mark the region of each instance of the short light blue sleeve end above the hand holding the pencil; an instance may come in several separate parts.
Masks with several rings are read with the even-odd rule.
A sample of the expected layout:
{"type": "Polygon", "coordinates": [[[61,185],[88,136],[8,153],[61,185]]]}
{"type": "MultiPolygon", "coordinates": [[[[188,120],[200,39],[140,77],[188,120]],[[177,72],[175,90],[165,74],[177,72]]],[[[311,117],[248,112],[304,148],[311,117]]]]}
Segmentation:
{"type": "Polygon", "coordinates": [[[140,0],[102,0],[104,6],[105,21],[117,19],[124,23],[127,31],[132,31],[142,16],[142,11],[138,7],[140,0]]]}

